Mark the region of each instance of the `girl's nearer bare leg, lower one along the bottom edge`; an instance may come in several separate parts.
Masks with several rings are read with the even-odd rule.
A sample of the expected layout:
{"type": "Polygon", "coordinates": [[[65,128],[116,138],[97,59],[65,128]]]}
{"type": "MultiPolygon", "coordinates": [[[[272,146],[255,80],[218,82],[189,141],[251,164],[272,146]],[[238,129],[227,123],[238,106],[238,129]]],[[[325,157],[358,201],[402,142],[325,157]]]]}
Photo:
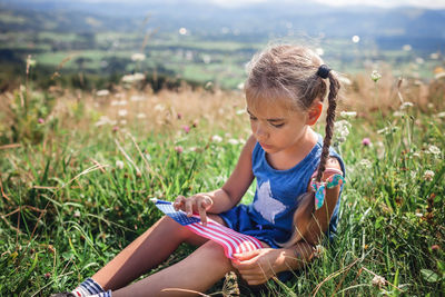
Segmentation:
{"type": "Polygon", "coordinates": [[[230,270],[222,247],[209,240],[180,263],[112,291],[112,297],[196,296],[187,290],[205,293],[230,270]]]}

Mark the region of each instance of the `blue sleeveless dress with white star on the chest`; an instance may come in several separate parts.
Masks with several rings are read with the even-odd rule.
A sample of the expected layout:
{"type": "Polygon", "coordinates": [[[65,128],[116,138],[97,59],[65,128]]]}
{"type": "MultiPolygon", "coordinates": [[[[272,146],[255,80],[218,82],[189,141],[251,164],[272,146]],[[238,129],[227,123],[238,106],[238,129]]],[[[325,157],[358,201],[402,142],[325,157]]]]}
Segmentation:
{"type": "MultiPolygon", "coordinates": [[[[271,248],[279,248],[277,244],[287,241],[291,235],[294,212],[298,208],[297,198],[307,191],[319,165],[322,147],[323,138],[318,135],[317,143],[301,161],[290,169],[277,170],[268,164],[266,152],[257,142],[253,150],[253,171],[257,181],[254,201],[250,205],[239,204],[219,216],[229,228],[254,236],[271,248]]],[[[329,155],[338,159],[345,176],[342,157],[333,148],[329,155]]],[[[330,240],[337,230],[342,189],[343,185],[326,231],[330,240]]]]}

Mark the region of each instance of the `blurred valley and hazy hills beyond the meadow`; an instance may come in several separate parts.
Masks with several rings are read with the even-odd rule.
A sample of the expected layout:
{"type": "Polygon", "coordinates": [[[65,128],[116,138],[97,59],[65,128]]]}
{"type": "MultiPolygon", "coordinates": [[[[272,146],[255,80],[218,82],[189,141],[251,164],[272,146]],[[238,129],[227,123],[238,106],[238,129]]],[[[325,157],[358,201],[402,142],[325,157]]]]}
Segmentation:
{"type": "Polygon", "coordinates": [[[389,65],[395,76],[431,79],[445,47],[445,3],[431,2],[1,0],[0,91],[23,81],[28,55],[43,87],[109,88],[144,72],[236,89],[250,57],[283,41],[316,49],[344,73],[389,65]]]}

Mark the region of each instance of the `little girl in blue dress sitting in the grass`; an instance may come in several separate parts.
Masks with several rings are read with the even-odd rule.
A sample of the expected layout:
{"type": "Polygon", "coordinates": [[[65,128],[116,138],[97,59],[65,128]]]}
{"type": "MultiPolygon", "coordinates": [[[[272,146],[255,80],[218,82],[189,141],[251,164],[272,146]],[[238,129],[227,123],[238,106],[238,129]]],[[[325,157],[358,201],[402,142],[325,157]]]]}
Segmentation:
{"type": "Polygon", "coordinates": [[[249,285],[300,268],[324,235],[336,232],[345,167],[329,148],[339,82],[312,50],[274,46],[255,56],[245,83],[251,136],[226,184],[174,206],[260,240],[263,248],[228,259],[220,245],[162,217],[91,278],[55,296],[186,296],[204,293],[226,273],[249,285]],[[325,138],[312,126],[327,95],[325,138]],[[253,180],[253,204],[238,205],[253,180]],[[184,260],[139,281],[181,242],[199,246],[184,260]],[[128,285],[130,284],[130,285],[128,285]],[[179,288],[181,290],[175,290],[179,288]]]}

